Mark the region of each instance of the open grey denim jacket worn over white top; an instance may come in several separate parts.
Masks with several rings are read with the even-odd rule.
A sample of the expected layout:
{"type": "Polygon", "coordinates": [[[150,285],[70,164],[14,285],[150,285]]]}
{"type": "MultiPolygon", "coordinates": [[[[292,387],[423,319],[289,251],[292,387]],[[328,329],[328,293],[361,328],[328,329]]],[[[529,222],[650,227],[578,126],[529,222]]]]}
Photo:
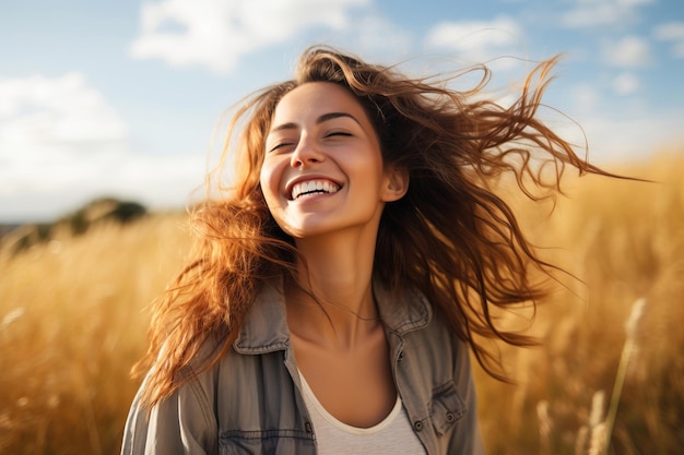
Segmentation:
{"type": "MultiPolygon", "coordinates": [[[[280,289],[264,287],[233,349],[149,418],[135,397],[122,455],[316,454],[280,289]]],[[[394,383],[426,453],[483,454],[467,345],[422,295],[374,291],[394,383]]]]}

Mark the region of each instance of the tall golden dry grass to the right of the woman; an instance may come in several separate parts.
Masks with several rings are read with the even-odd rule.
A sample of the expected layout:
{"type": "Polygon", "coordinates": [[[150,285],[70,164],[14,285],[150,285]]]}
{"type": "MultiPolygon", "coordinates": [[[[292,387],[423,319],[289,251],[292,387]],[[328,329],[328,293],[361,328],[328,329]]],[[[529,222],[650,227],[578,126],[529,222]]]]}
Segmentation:
{"type": "Polygon", "coordinates": [[[609,428],[611,454],[684,450],[684,157],[617,171],[654,182],[570,179],[555,207],[520,203],[542,254],[579,279],[559,274],[540,308],[542,347],[502,347],[516,385],[479,374],[490,454],[601,454],[609,428]]]}

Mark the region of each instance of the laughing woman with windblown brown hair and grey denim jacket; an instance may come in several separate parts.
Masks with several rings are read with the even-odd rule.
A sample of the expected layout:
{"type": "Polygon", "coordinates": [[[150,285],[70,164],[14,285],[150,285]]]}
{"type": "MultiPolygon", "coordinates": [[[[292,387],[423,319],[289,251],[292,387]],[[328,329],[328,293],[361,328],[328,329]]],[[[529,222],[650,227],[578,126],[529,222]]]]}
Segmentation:
{"type": "Polygon", "coordinates": [[[311,48],[249,98],[241,173],[193,214],[122,453],[483,453],[469,352],[497,375],[482,338],[531,342],[491,310],[539,299],[550,268],[487,183],[603,173],[534,117],[552,65],[504,109],[311,48]]]}

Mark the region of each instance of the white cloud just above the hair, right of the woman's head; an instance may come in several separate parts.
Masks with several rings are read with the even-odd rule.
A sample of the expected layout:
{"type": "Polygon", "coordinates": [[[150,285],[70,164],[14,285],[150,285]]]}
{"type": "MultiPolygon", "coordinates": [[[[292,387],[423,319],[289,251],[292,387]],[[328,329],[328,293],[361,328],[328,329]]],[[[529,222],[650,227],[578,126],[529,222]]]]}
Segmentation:
{"type": "Polygon", "coordinates": [[[425,46],[448,49],[471,62],[485,62],[503,55],[517,53],[523,33],[512,19],[500,16],[492,21],[441,22],[425,37],[425,46]]]}

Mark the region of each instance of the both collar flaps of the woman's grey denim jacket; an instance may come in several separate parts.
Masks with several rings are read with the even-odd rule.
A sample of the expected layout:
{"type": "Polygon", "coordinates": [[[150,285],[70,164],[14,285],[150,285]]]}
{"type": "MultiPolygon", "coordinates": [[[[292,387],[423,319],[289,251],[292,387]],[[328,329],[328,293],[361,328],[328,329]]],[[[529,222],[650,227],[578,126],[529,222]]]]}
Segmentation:
{"type": "MultiPolygon", "coordinates": [[[[425,327],[432,320],[427,299],[416,290],[390,291],[379,280],[374,280],[373,292],[388,332],[402,336],[425,327]]],[[[287,349],[290,328],[282,278],[267,283],[258,292],[233,346],[244,355],[287,349]]]]}

